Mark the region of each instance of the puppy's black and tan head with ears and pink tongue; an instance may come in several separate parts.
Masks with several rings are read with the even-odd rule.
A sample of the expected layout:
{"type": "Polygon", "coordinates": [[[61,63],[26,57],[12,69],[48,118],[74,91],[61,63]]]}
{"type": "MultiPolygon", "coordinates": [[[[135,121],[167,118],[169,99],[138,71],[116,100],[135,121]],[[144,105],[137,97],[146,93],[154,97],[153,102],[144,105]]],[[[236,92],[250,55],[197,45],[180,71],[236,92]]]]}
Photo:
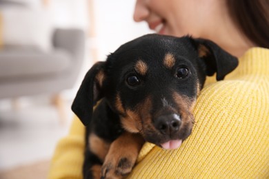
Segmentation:
{"type": "Polygon", "coordinates": [[[237,63],[212,41],[141,36],[88,71],[72,110],[88,125],[92,107],[103,98],[124,129],[163,148],[177,148],[192,131],[192,108],[206,75],[216,72],[222,80],[237,63]]]}

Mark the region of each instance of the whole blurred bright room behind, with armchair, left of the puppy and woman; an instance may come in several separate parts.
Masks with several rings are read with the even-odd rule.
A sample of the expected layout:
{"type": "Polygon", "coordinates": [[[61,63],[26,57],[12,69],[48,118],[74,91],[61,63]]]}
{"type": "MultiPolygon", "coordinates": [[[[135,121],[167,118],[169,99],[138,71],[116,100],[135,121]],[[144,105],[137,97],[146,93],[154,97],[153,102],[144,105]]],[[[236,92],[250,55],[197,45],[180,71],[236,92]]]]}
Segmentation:
{"type": "Polygon", "coordinates": [[[0,178],[46,178],[83,76],[151,33],[135,0],[0,0],[0,178]]]}

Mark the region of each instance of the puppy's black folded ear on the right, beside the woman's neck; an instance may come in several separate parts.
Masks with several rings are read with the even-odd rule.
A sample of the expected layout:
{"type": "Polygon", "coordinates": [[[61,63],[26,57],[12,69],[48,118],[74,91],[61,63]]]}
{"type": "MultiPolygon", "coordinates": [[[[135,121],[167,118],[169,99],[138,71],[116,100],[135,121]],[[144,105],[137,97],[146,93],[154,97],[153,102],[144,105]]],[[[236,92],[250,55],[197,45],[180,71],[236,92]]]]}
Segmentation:
{"type": "Polygon", "coordinates": [[[206,39],[195,39],[198,55],[206,63],[206,73],[212,76],[217,72],[217,81],[235,70],[238,59],[225,50],[221,49],[216,43],[206,39]]]}

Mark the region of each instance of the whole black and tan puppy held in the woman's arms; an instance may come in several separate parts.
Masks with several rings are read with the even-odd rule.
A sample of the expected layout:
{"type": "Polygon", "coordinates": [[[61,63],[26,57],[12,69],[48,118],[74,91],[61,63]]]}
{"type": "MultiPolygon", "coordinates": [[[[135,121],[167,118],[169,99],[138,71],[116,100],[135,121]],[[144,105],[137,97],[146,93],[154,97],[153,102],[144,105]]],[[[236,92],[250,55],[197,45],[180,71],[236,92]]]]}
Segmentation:
{"type": "Polygon", "coordinates": [[[72,104],[87,125],[84,178],[130,173],[145,141],[178,148],[192,131],[192,108],[206,76],[217,72],[222,80],[237,63],[212,41],[157,34],[96,63],[72,104]]]}

